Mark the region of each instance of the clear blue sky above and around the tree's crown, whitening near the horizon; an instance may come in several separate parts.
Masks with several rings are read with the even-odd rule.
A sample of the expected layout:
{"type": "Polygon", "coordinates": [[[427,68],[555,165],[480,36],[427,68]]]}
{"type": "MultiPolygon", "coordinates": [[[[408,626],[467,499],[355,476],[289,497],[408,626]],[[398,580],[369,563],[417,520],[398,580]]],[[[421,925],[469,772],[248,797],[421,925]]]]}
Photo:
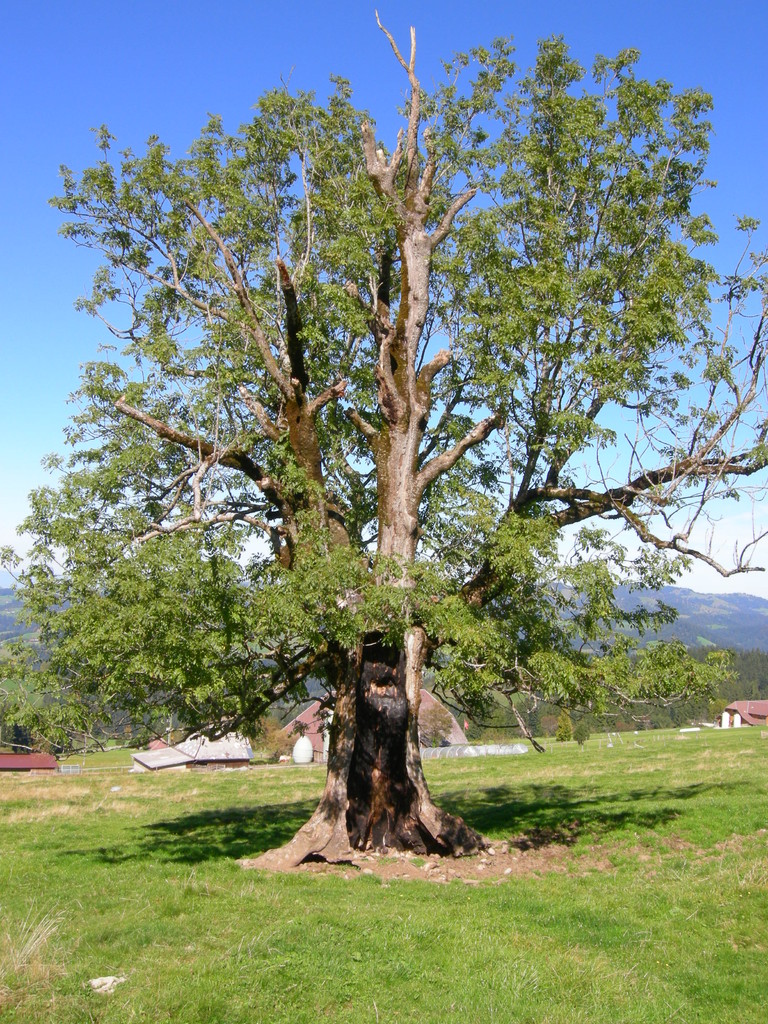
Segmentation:
{"type": "MultiPolygon", "coordinates": [[[[58,215],[47,200],[58,189],[59,164],[80,170],[92,163],[89,129],[102,123],[121,146],[139,148],[157,133],[181,154],[208,112],[236,128],[260,93],[281,80],[323,94],[330,74],[351,81],[357,103],[371,111],[382,136],[388,125],[394,134],[403,76],[376,27],[374,6],[359,0],[6,5],[0,56],[0,544],[17,543],[27,494],[47,480],[40,460],[62,449],[72,411],[67,399],[79,366],[109,340],[103,328],[73,309],[93,263],[57,237],[58,215]]],[[[728,238],[733,217],[750,213],[768,221],[765,0],[379,0],[378,7],[403,47],[409,26],[416,26],[425,84],[439,75],[441,57],[500,35],[514,36],[517,60],[525,67],[537,40],[552,34],[563,35],[586,65],[596,53],[637,47],[646,77],[666,78],[676,88],[700,85],[715,97],[710,176],[719,186],[706,208],[724,237],[726,265],[735,252],[728,238]]],[[[696,573],[690,585],[768,596],[768,573],[725,584],[711,572],[696,573]]]]}

